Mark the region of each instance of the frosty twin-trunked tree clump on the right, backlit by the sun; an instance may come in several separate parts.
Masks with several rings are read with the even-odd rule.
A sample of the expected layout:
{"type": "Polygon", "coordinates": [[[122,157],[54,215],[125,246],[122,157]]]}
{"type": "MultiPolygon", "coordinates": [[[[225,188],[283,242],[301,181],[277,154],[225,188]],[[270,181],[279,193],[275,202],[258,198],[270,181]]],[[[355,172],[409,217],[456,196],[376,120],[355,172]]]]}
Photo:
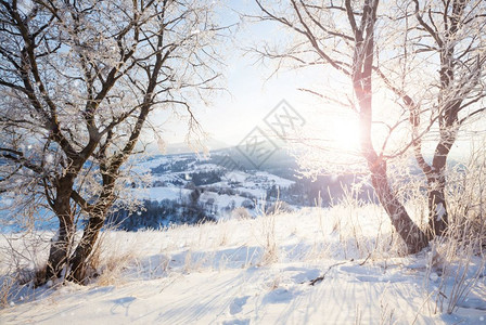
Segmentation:
{"type": "Polygon", "coordinates": [[[444,234],[447,157],[460,128],[486,109],[486,1],[255,2],[260,10],[257,20],[276,22],[294,36],[290,43],[256,47],[263,60],[278,61],[279,68],[285,63],[294,68],[323,66],[325,74],[338,74],[336,78],[350,86],[353,95],[340,99],[306,91],[357,114],[360,154],[408,251],[417,252],[444,234]],[[394,96],[395,105],[380,107],[383,96],[394,96]],[[396,118],[381,119],[379,107],[395,112],[396,118]],[[378,125],[386,130],[379,141],[378,125]],[[392,146],[404,129],[410,129],[410,135],[392,146]],[[431,143],[432,154],[424,155],[431,143]],[[387,162],[410,148],[426,178],[426,232],[411,220],[388,176],[387,162]]]}

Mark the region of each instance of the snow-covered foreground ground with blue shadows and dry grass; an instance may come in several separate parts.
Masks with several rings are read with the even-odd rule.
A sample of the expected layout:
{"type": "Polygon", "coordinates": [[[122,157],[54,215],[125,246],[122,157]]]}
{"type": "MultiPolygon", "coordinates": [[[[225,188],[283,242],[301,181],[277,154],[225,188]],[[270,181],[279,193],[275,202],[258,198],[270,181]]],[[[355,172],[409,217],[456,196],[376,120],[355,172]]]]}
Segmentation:
{"type": "MultiPolygon", "coordinates": [[[[42,260],[48,245],[36,247],[42,260]]],[[[95,281],[25,286],[0,324],[486,324],[479,256],[400,249],[376,206],[104,232],[95,281]]]]}

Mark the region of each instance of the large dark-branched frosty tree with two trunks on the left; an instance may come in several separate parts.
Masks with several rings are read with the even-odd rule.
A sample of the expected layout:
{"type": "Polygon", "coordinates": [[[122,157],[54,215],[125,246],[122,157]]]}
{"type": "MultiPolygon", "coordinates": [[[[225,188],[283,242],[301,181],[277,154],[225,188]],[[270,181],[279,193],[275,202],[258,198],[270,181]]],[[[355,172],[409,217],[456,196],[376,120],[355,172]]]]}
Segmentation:
{"type": "Polygon", "coordinates": [[[215,3],[0,1],[0,191],[9,218],[44,205],[59,219],[44,281],[84,281],[151,113],[182,109],[197,126],[192,104],[219,77],[215,3]]]}

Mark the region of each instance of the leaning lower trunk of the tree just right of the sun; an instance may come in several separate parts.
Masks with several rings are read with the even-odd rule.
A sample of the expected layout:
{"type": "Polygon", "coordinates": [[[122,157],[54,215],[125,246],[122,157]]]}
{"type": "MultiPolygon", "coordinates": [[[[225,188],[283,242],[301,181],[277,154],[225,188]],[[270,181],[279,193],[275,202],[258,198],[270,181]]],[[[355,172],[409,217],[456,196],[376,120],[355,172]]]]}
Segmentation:
{"type": "Polygon", "coordinates": [[[386,162],[380,159],[378,162],[369,164],[369,168],[378,198],[389,216],[395,230],[406,243],[408,252],[419,252],[429,245],[429,239],[425,233],[410,219],[404,205],[389,187],[386,162]]]}

